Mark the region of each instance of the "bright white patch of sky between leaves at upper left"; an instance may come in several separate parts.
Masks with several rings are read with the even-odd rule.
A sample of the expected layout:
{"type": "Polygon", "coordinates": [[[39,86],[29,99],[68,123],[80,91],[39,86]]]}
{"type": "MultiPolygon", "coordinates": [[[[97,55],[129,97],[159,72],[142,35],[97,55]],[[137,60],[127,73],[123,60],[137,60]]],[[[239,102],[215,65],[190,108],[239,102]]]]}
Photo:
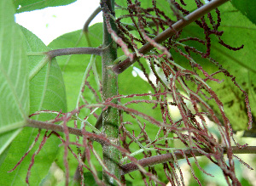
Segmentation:
{"type": "MultiPolygon", "coordinates": [[[[99,3],[100,0],[78,0],[67,6],[15,14],[15,20],[48,45],[62,34],[82,29],[85,21],[99,6],[99,3]]],[[[96,22],[102,22],[102,13],[98,14],[90,25],[96,22]]]]}

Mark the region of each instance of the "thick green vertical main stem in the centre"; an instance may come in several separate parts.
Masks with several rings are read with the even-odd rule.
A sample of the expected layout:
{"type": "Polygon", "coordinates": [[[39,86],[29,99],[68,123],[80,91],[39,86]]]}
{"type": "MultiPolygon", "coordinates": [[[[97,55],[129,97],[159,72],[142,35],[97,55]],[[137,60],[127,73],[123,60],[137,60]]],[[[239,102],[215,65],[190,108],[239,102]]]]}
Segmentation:
{"type": "MultiPolygon", "coordinates": [[[[104,0],[102,0],[104,1],[104,0]]],[[[108,9],[114,16],[114,0],[105,0],[108,9]]],[[[103,48],[102,53],[102,94],[103,101],[118,94],[118,79],[113,70],[109,68],[113,65],[114,59],[117,58],[116,43],[113,42],[111,35],[108,33],[106,18],[104,16],[104,35],[103,35],[103,48]]],[[[110,20],[113,31],[116,31],[116,25],[113,20],[110,20]]],[[[114,101],[117,104],[117,101],[114,101]]],[[[119,144],[119,111],[115,108],[108,107],[102,116],[102,128],[107,137],[114,143],[119,144]]],[[[110,173],[116,178],[120,179],[119,160],[120,153],[111,145],[104,145],[103,147],[103,161],[108,167],[110,173]]],[[[117,185],[117,182],[103,171],[103,182],[107,185],[117,185]]]]}

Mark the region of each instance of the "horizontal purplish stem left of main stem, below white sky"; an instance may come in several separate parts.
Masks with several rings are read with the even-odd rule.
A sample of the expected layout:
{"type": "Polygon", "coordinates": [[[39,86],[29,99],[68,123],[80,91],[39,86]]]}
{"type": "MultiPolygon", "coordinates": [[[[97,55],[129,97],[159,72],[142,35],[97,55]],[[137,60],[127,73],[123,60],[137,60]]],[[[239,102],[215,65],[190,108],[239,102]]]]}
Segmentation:
{"type": "Polygon", "coordinates": [[[102,48],[61,48],[50,50],[45,53],[49,59],[53,59],[56,56],[71,55],[71,54],[95,54],[101,55],[102,48]]]}

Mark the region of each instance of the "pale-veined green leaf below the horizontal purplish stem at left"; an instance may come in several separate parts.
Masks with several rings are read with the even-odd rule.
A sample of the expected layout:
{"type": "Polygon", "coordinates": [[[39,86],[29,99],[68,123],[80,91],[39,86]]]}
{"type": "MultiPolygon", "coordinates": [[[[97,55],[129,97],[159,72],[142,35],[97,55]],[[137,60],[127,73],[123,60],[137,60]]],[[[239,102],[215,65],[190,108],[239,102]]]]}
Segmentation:
{"type": "MultiPolygon", "coordinates": [[[[26,46],[29,54],[49,51],[49,48],[44,45],[44,42],[32,34],[31,31],[23,27],[21,28],[26,38],[26,46]]],[[[30,55],[29,70],[34,71],[41,63],[44,63],[44,60],[47,60],[44,55],[30,55]]],[[[30,78],[30,114],[38,110],[67,111],[65,85],[61,69],[55,59],[47,61],[46,65],[35,76],[31,76],[30,78]]]]}

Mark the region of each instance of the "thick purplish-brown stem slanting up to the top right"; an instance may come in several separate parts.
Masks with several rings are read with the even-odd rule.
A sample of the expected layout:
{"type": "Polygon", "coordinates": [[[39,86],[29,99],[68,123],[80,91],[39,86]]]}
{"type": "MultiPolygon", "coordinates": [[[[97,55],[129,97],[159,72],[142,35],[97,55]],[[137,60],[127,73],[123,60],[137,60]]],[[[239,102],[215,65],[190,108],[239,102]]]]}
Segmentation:
{"type": "MultiPolygon", "coordinates": [[[[184,19],[178,20],[175,24],[172,25],[172,28],[166,29],[166,31],[163,31],[160,33],[159,36],[154,37],[154,41],[161,43],[164,42],[167,38],[172,37],[177,31],[182,30],[185,26],[189,25],[190,23],[194,22],[195,20],[198,20],[201,18],[204,14],[207,14],[208,12],[212,11],[214,8],[218,8],[221,4],[227,2],[229,0],[213,0],[201,8],[196,9],[191,14],[188,14],[184,19]]],[[[147,42],[145,45],[143,45],[142,48],[138,50],[138,53],[140,54],[147,54],[151,49],[153,49],[154,46],[150,44],[150,42],[147,42]]],[[[123,72],[126,70],[129,66],[134,64],[137,59],[140,57],[137,57],[137,55],[133,54],[133,59],[125,59],[118,65],[113,66],[113,71],[117,74],[123,72]]]]}

